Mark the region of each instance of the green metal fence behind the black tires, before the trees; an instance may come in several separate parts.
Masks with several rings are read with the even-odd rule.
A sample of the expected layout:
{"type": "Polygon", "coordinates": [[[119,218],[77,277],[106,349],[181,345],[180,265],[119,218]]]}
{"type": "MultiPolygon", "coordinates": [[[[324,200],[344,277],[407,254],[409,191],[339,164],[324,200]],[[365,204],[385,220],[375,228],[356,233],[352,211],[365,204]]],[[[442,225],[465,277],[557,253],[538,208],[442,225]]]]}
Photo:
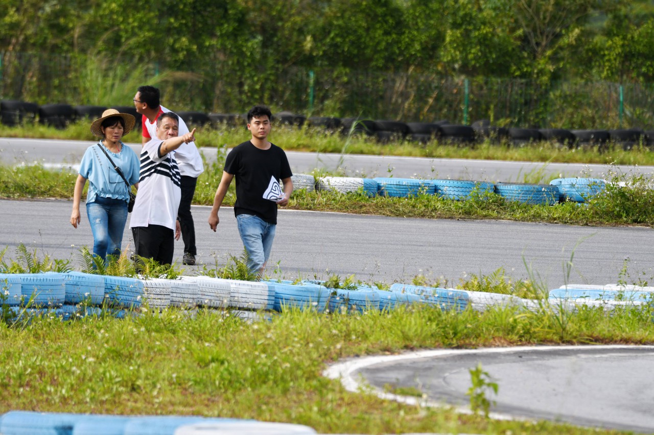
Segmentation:
{"type": "MultiPolygon", "coordinates": [[[[0,99],[39,104],[131,104],[124,94],[133,95],[135,88],[122,94],[103,93],[103,101],[88,101],[94,95],[80,91],[84,80],[88,80],[80,71],[94,62],[88,57],[0,53],[0,99]],[[86,101],[80,101],[80,97],[86,101]]],[[[106,86],[145,84],[152,74],[164,76],[169,71],[157,64],[141,73],[129,78],[107,74],[111,82],[106,86]]],[[[654,129],[654,84],[561,81],[542,85],[515,78],[343,69],[235,72],[216,64],[194,67],[193,74],[170,74],[157,86],[162,89],[165,104],[177,110],[242,113],[253,104],[266,103],[273,111],[289,110],[307,116],[449,120],[464,124],[490,120],[496,125],[568,129],[654,129]]]]}

